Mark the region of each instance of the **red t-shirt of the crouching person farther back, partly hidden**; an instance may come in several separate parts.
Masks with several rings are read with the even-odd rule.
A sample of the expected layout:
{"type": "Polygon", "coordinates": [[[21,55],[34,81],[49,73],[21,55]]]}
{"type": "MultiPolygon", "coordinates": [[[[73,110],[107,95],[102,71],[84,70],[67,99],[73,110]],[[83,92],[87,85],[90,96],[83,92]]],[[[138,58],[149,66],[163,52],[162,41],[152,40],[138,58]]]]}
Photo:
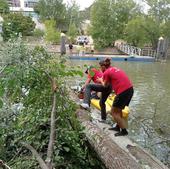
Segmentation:
{"type": "Polygon", "coordinates": [[[92,78],[94,83],[99,83],[97,79],[102,77],[103,77],[102,71],[97,70],[96,68],[92,68],[89,70],[88,78],[92,78]]]}

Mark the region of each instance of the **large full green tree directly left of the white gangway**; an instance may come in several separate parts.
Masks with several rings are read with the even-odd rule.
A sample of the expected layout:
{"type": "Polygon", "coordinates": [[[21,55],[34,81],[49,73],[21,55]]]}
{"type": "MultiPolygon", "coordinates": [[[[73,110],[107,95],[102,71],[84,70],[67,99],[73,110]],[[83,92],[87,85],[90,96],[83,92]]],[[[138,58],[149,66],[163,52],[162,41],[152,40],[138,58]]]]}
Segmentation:
{"type": "Polygon", "coordinates": [[[131,19],[135,3],[129,1],[97,0],[91,10],[91,35],[96,47],[107,47],[122,38],[131,19]]]}

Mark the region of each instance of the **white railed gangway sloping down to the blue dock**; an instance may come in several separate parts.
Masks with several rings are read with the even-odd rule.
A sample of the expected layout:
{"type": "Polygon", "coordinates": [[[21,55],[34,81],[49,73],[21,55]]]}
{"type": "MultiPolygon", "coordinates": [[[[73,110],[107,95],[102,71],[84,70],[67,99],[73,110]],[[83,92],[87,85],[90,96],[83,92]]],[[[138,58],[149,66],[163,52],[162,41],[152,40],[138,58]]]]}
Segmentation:
{"type": "Polygon", "coordinates": [[[148,49],[141,49],[135,46],[131,46],[128,44],[116,44],[116,47],[128,54],[128,55],[132,55],[132,56],[151,56],[151,57],[156,57],[157,52],[156,50],[152,50],[150,48],[148,49]]]}

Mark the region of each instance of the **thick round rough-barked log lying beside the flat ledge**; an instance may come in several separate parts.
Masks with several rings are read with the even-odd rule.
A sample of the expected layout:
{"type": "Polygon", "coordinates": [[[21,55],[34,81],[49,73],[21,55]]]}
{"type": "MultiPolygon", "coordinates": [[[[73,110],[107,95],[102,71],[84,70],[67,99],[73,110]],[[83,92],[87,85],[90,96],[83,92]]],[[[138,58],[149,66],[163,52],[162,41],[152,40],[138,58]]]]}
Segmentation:
{"type": "Polygon", "coordinates": [[[78,109],[77,116],[85,127],[85,134],[108,169],[142,169],[138,163],[122,150],[96,124],[88,120],[87,111],[78,109]]]}

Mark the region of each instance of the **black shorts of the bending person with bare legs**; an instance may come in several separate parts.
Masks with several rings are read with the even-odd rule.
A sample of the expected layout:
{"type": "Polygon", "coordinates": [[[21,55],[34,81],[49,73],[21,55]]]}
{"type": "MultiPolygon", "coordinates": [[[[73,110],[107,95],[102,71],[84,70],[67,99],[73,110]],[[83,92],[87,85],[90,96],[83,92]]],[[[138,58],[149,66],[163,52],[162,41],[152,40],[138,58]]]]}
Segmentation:
{"type": "Polygon", "coordinates": [[[124,109],[125,106],[129,106],[129,103],[133,96],[133,92],[133,87],[131,87],[124,92],[118,94],[114,99],[112,107],[124,109]]]}

